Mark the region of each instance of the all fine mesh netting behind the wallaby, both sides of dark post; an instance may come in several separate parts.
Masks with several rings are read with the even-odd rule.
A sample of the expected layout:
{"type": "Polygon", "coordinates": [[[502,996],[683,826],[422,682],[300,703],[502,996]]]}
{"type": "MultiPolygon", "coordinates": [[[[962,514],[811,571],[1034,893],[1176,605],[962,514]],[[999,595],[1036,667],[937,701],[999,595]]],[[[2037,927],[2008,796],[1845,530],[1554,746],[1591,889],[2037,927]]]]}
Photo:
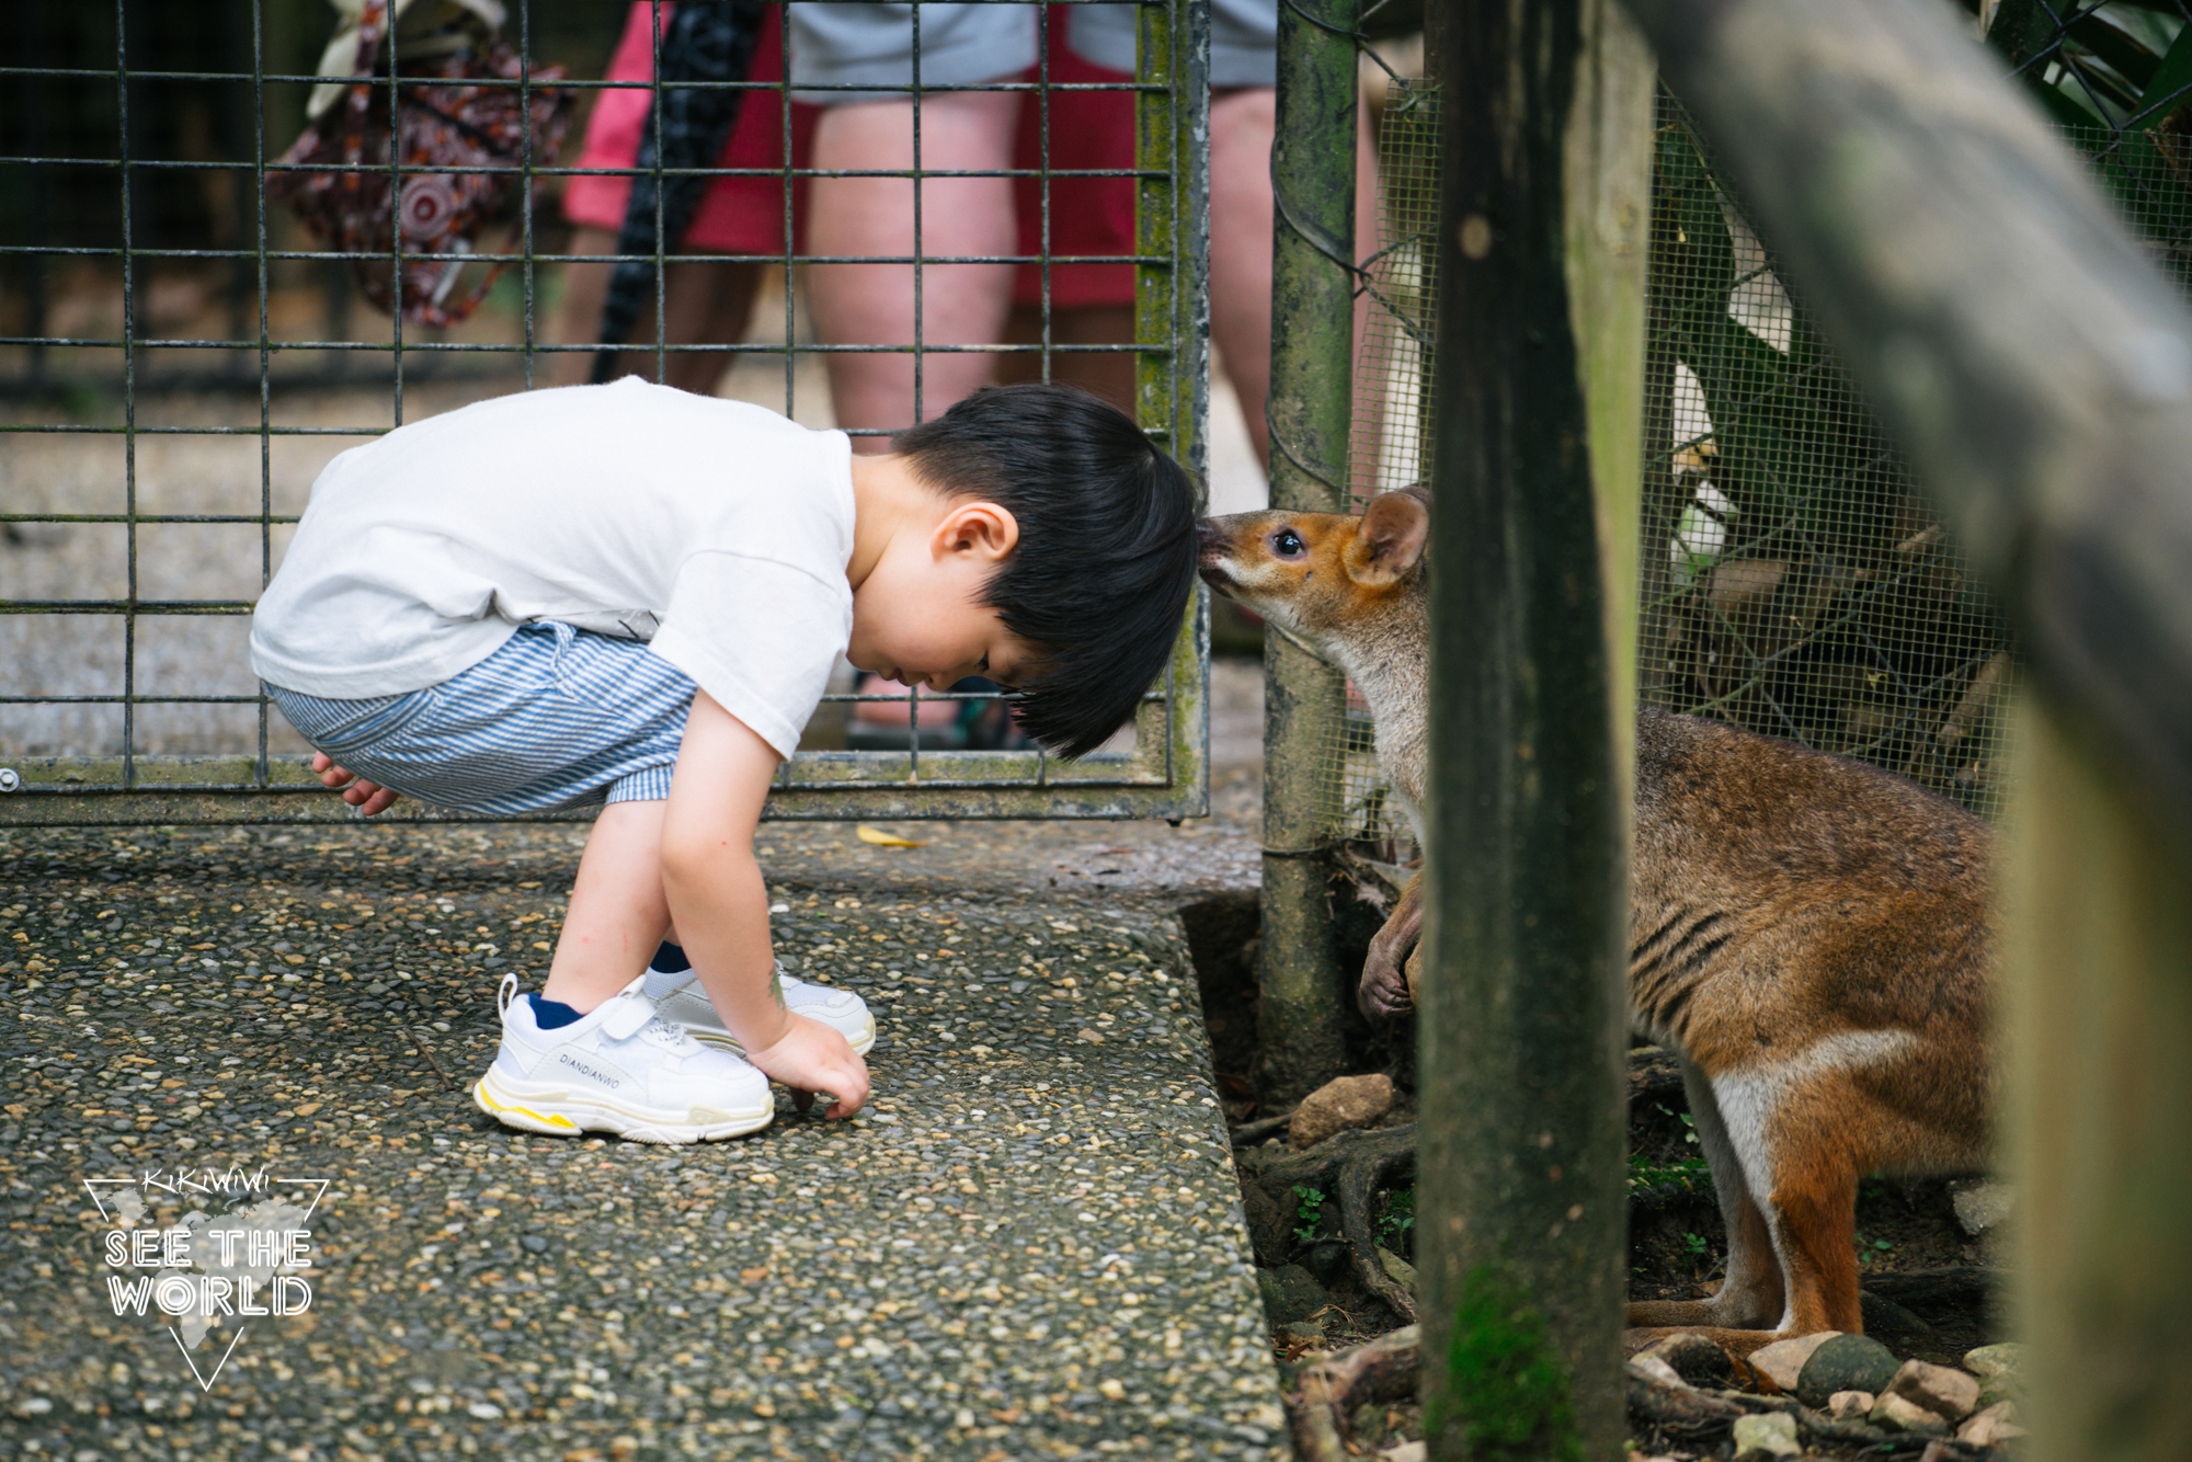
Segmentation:
{"type": "MultiPolygon", "coordinates": [[[[1379,138],[1379,252],[1357,366],[1374,430],[1355,434],[1357,506],[1429,480],[1434,110],[1420,83],[1396,85],[1379,138]]],[[[2058,132],[2192,289],[2192,125],[2058,132]]],[[[2017,666],[2003,620],[1668,94],[1653,199],[1640,697],[1999,811],[2017,666]]],[[[1412,855],[1352,688],[1320,776],[1335,842],[1383,861],[1412,855]]]]}

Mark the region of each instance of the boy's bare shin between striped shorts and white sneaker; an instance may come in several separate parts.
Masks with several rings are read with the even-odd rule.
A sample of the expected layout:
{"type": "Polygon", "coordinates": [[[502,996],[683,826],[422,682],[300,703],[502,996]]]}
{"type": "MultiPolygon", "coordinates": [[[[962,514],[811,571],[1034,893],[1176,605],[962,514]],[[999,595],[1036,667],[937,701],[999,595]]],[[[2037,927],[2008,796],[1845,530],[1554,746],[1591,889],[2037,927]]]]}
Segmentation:
{"type": "Polygon", "coordinates": [[[587,833],[546,1000],[581,1015],[647,971],[671,923],[662,896],[662,813],[669,802],[609,802],[587,833]]]}

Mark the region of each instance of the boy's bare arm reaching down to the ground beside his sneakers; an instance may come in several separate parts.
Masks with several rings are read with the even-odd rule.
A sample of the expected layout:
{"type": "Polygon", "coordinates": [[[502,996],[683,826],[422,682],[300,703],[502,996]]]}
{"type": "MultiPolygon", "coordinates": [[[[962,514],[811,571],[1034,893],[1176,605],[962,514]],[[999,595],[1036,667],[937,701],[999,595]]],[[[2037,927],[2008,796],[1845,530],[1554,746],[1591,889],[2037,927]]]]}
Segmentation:
{"type": "MultiPolygon", "coordinates": [[[[776,750],[706,690],[693,695],[662,815],[662,892],[717,1015],[745,1059],[796,1094],[829,1092],[831,1116],[868,1100],[868,1067],[842,1035],[791,1015],[776,989],[769,901],[754,829],[776,750]]],[[[804,1103],[802,1103],[804,1105],[804,1103]]]]}

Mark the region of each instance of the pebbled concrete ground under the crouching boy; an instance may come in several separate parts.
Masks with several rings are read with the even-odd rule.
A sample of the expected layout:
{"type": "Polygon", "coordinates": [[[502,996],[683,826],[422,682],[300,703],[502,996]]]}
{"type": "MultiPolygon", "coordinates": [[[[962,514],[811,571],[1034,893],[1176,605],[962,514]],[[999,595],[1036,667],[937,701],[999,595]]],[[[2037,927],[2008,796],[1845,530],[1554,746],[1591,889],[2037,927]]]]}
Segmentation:
{"type": "Polygon", "coordinates": [[[695,1149],[467,1098],[574,829],[0,833],[0,1451],[1287,1455],[1175,916],[1254,877],[1249,772],[1219,807],[765,826],[787,962],[877,1008],[877,1100],[695,1149]],[[112,1313],[83,1179],[145,1173],[138,1227],[329,1179],[311,1309],[213,1326],[208,1387],[112,1313]]]}

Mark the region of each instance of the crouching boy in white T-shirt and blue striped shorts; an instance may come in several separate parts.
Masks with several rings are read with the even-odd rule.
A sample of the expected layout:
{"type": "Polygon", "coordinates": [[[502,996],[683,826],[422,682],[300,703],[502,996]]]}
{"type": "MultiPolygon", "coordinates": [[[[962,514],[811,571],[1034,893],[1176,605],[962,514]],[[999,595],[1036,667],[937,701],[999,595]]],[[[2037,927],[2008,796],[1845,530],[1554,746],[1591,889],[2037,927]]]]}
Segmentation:
{"type": "Polygon", "coordinates": [[[783,975],[754,829],[831,666],[986,675],[1065,756],[1162,671],[1195,489],[1120,412],[984,390],[842,432],[627,377],[480,401],[338,456],[252,618],[252,669],[373,815],[603,804],[535,995],[473,1087],[509,1127],[699,1142],[769,1081],[868,1098],[868,1008],[783,975]]]}

